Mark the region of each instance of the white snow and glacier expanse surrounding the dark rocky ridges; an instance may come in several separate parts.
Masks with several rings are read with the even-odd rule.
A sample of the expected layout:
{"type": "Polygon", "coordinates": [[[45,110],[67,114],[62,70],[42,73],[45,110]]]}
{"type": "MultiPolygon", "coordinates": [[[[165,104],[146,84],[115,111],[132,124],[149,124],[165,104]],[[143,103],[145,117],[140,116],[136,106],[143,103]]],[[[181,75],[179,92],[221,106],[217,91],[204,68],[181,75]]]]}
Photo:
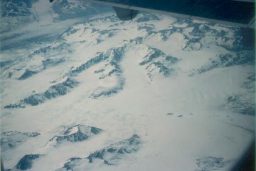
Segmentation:
{"type": "MultiPolygon", "coordinates": [[[[105,16],[112,17],[109,14],[105,16]]],[[[95,18],[105,16],[95,16],[95,18]]],[[[176,20],[170,16],[158,15],[158,17],[159,21],[150,20],[146,23],[156,26],[156,30],[162,30],[167,29],[167,26],[176,20]]],[[[87,157],[91,152],[130,138],[134,133],[142,139],[141,149],[120,160],[119,164],[108,166],[98,161],[99,164],[81,165],[78,168],[104,171],[186,171],[199,169],[196,159],[214,156],[222,157],[225,161],[230,160],[220,169],[228,170],[236,159],[241,157],[254,138],[254,116],[235,113],[224,105],[225,99],[231,94],[243,94],[246,91],[242,85],[249,74],[254,72],[253,65],[216,68],[203,74],[195,74],[194,71],[205,65],[210,58],[229,51],[216,46],[212,41],[205,41],[208,44],[203,44],[204,47],[200,51],[184,51],[182,47],[187,41],[185,33],[189,33],[188,30],[184,34],[173,33],[169,35],[168,40],[163,41],[158,34],[145,37],[145,31],[137,30],[137,27],[143,23],[136,23],[136,21],[127,21],[113,27],[110,26],[120,21],[91,21],[91,26],[88,23],[74,25],[75,20],[70,20],[70,23],[62,22],[61,30],[64,30],[64,26],[68,29],[70,25],[73,29],[79,30],[70,35],[67,33],[62,35],[65,40],[61,40],[61,43],[69,44],[67,48],[72,50],[64,63],[40,71],[26,80],[1,78],[1,131],[40,133],[37,138],[21,144],[14,150],[2,153],[2,160],[7,169],[13,168],[22,156],[40,152],[46,155],[38,158],[31,170],[56,170],[63,167],[69,158],[87,157]],[[100,32],[92,33],[93,28],[119,30],[115,30],[113,37],[106,38],[100,32]],[[137,37],[145,38],[142,44],[125,41],[137,37]],[[97,43],[95,41],[97,38],[102,41],[97,43]],[[85,42],[82,42],[83,40],[85,42]],[[117,75],[99,79],[101,73],[95,73],[104,68],[106,70],[103,74],[106,75],[113,69],[108,65],[109,61],[105,60],[75,75],[73,79],[78,80],[79,85],[70,89],[65,96],[59,96],[37,106],[4,108],[5,105],[28,97],[33,90],[43,92],[54,83],[61,82],[60,79],[64,79],[63,75],[95,57],[97,52],[106,52],[112,47],[120,47],[123,44],[128,45],[125,46],[125,53],[118,63],[122,69],[122,74],[118,77],[122,77],[125,84],[117,93],[98,99],[89,98],[90,94],[98,91],[99,88],[101,91],[102,88],[105,90],[119,86],[117,75]],[[162,77],[155,71],[156,77],[153,80],[148,79],[145,66],[139,65],[150,53],[147,47],[158,48],[166,55],[178,58],[177,64],[171,66],[175,69],[175,74],[162,77]],[[167,115],[167,113],[173,114],[167,115]],[[101,128],[104,132],[93,136],[88,141],[42,148],[49,139],[64,131],[64,128],[77,124],[101,128]]],[[[186,25],[175,26],[186,27],[186,25]]],[[[54,25],[49,29],[59,27],[54,25]]],[[[24,39],[33,37],[36,35],[36,28],[27,30],[27,34],[31,32],[32,35],[25,34],[16,40],[21,40],[22,37],[24,39]]],[[[232,32],[229,28],[225,30],[232,32]]],[[[43,32],[46,33],[49,30],[45,29],[43,32]]],[[[40,34],[38,31],[38,35],[40,34]]],[[[205,39],[209,37],[206,36],[205,39]]],[[[33,49],[39,49],[38,44],[31,44],[31,46],[34,46],[33,49]]],[[[15,48],[12,51],[1,51],[1,61],[6,60],[9,55],[15,56],[14,54],[18,54],[19,51],[15,48]],[[2,58],[3,55],[4,58],[2,58]]],[[[31,51],[34,50],[31,49],[31,51]]],[[[31,52],[24,52],[21,55],[24,57],[28,54],[31,52]]],[[[27,60],[23,65],[38,65],[41,60],[42,57],[38,56],[38,58],[27,60]]],[[[164,62],[164,60],[161,61],[164,62]]],[[[73,127],[69,134],[77,131],[78,127],[73,127]]]]}

